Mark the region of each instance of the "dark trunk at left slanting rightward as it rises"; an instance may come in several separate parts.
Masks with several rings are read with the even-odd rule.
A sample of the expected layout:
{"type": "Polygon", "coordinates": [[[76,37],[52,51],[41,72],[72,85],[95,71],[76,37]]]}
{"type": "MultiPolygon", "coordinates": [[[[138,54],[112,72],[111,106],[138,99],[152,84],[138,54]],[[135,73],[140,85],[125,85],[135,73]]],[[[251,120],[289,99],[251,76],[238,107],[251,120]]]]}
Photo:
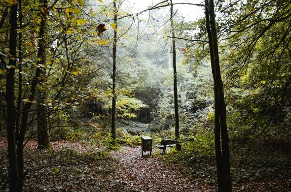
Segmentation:
{"type": "MultiPolygon", "coordinates": [[[[43,0],[43,4],[47,4],[47,0],[43,0]]],[[[42,18],[40,22],[40,29],[39,29],[39,35],[38,35],[38,49],[37,49],[37,58],[43,58],[44,55],[44,27],[46,23],[46,17],[42,18]]],[[[42,61],[37,60],[37,64],[42,64],[42,61]]],[[[40,67],[36,68],[36,74],[34,76],[34,79],[31,84],[31,93],[29,96],[29,101],[33,101],[36,96],[36,86],[37,83],[39,82],[39,77],[40,77],[40,67]]],[[[21,118],[21,127],[20,127],[20,132],[18,136],[18,142],[17,142],[17,160],[18,160],[18,168],[19,168],[19,175],[20,175],[20,182],[23,184],[23,173],[24,173],[24,161],[23,161],[23,141],[27,129],[27,121],[28,121],[28,116],[29,116],[29,110],[32,107],[32,102],[27,102],[24,107],[23,107],[23,112],[22,113],[22,118],[21,118]]]]}

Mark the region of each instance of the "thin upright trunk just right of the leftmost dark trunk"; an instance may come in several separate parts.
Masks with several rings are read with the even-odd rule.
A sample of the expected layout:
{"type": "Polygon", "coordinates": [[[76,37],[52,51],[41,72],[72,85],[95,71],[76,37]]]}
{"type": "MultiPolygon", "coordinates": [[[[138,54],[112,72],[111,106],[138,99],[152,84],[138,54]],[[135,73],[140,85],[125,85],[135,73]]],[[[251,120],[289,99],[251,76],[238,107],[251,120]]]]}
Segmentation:
{"type": "MultiPolygon", "coordinates": [[[[19,29],[22,29],[22,4],[21,0],[18,1],[19,5],[19,29]]],[[[17,98],[17,114],[16,114],[16,130],[15,130],[15,139],[17,141],[18,138],[18,133],[19,133],[19,123],[20,123],[20,116],[21,113],[21,102],[22,102],[22,32],[20,31],[18,33],[18,57],[19,57],[19,62],[18,62],[18,98],[17,98]]]]}

